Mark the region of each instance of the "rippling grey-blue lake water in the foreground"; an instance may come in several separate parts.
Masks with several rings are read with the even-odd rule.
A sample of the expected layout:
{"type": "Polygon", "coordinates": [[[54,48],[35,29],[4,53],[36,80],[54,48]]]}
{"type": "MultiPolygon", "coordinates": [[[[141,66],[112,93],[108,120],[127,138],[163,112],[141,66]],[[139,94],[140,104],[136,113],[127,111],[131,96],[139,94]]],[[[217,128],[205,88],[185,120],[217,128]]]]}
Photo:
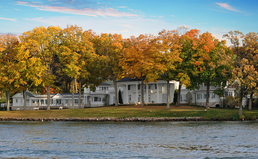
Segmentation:
{"type": "Polygon", "coordinates": [[[0,122],[0,158],[257,159],[258,122],[0,122]]]}

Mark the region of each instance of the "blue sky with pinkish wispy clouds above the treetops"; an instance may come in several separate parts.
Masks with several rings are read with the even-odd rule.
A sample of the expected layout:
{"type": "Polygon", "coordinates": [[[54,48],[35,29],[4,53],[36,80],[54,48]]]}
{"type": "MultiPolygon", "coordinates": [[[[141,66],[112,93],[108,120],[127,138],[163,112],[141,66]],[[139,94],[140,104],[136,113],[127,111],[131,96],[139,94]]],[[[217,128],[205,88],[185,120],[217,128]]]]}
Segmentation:
{"type": "MultiPolygon", "coordinates": [[[[258,32],[258,1],[0,1],[0,33],[77,25],[124,38],[180,26],[212,33],[258,32]]],[[[229,44],[228,44],[229,45],[229,44]]]]}

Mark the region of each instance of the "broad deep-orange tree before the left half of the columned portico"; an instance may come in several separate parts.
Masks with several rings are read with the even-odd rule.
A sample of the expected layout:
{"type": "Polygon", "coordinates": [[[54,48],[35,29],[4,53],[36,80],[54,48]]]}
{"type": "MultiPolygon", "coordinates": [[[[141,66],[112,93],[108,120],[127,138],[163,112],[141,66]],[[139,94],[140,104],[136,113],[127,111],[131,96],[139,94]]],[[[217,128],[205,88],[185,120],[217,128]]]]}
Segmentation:
{"type": "Polygon", "coordinates": [[[125,40],[122,55],[120,66],[127,73],[126,76],[141,79],[138,83],[141,85],[141,105],[144,106],[144,83],[156,82],[164,73],[164,67],[160,65],[159,43],[153,35],[131,36],[125,40]]]}

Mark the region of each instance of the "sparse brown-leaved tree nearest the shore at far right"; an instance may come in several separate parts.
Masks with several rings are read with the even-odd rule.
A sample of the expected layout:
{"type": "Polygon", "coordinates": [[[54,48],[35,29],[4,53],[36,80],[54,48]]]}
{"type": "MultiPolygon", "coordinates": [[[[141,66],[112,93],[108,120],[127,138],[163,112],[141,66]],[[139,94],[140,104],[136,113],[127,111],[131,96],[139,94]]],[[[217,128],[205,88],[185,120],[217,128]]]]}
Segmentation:
{"type": "Polygon", "coordinates": [[[235,55],[232,62],[233,68],[231,69],[232,78],[230,83],[237,88],[236,91],[240,98],[238,114],[242,115],[243,98],[248,94],[252,94],[252,92],[249,92],[256,88],[258,81],[258,33],[250,32],[244,35],[240,31],[230,31],[228,34],[223,35],[223,37],[230,40],[232,44],[231,49],[235,55]]]}

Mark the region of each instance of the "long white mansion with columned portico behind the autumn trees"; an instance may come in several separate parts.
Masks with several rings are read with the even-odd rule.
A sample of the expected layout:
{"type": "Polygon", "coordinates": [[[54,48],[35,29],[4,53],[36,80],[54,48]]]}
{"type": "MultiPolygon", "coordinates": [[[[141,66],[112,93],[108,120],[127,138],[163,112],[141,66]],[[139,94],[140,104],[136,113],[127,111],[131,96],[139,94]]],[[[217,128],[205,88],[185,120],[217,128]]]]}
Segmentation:
{"type": "MultiPolygon", "coordinates": [[[[139,81],[139,80],[138,80],[139,81]]],[[[139,104],[141,103],[141,86],[136,79],[124,77],[122,80],[117,81],[118,90],[121,91],[123,104],[139,104]]],[[[140,81],[139,81],[140,82],[140,81]]],[[[174,91],[179,87],[179,82],[170,81],[170,102],[173,102],[174,91]]],[[[218,87],[210,86],[210,106],[220,104],[219,96],[215,95],[213,91],[218,87]]],[[[181,88],[180,103],[186,103],[185,87],[181,88]]],[[[167,102],[167,81],[158,80],[156,83],[144,84],[143,96],[145,103],[166,103],[167,102]]],[[[199,90],[191,91],[195,105],[205,105],[206,102],[206,86],[200,85],[199,90]]],[[[224,90],[225,97],[234,96],[234,88],[228,87],[224,90]]],[[[81,94],[81,103],[83,107],[97,107],[103,106],[104,96],[109,96],[109,104],[115,103],[115,88],[112,81],[103,82],[100,86],[95,88],[95,92],[90,91],[89,87],[84,85],[84,93],[81,94]]],[[[22,93],[17,93],[13,97],[12,109],[20,108],[23,110],[23,96],[22,93]]],[[[78,108],[79,94],[74,94],[75,108],[78,108]]],[[[51,93],[50,94],[50,107],[64,106],[71,108],[72,93],[51,93]]],[[[41,95],[28,92],[27,95],[27,109],[33,110],[35,107],[46,107],[47,95],[41,95]]]]}

